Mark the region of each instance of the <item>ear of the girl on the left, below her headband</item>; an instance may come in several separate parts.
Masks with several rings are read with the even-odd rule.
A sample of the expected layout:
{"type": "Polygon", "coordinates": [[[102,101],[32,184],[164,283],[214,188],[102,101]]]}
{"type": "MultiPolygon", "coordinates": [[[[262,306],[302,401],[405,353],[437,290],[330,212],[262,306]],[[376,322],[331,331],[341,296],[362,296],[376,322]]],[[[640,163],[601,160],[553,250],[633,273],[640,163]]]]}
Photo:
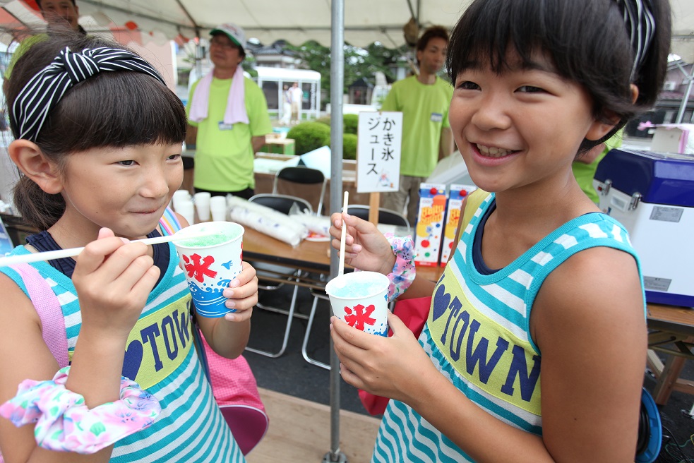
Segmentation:
{"type": "Polygon", "coordinates": [[[13,140],[7,150],[12,162],[43,191],[52,195],[63,191],[58,167],[48,160],[36,143],[13,140]]]}

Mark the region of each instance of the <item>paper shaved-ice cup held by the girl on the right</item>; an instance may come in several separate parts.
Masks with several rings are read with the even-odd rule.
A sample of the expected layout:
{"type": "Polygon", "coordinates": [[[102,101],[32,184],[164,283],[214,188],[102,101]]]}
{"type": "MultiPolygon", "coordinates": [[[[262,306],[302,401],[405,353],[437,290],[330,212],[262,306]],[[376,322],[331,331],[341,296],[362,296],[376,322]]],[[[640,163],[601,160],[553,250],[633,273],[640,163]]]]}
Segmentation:
{"type": "Polygon", "coordinates": [[[371,335],[388,336],[388,285],[378,272],[339,275],[325,285],[337,318],[371,335]]]}

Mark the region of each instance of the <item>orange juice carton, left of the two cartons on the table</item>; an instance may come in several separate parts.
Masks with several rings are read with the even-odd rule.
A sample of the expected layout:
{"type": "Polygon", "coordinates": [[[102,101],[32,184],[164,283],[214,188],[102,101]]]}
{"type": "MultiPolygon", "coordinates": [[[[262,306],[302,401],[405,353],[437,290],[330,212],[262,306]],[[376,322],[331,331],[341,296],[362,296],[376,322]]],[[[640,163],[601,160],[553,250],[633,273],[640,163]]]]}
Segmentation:
{"type": "Polygon", "coordinates": [[[414,249],[417,251],[414,263],[418,265],[438,265],[446,199],[444,184],[419,185],[419,215],[414,236],[414,249]]]}

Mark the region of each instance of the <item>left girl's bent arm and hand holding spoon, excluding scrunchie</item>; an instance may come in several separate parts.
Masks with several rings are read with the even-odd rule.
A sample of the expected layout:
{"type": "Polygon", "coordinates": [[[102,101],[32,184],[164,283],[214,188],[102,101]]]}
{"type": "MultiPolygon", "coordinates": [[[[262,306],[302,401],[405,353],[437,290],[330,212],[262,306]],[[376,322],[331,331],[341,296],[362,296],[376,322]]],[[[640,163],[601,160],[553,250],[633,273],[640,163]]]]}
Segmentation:
{"type": "MultiPolygon", "coordinates": [[[[119,385],[128,332],[157,280],[146,246],[127,246],[102,229],[78,257],[73,281],[80,297],[82,330],[66,388],[85,397],[89,407],[119,399],[119,385]],[[149,265],[148,265],[149,263],[149,265]]],[[[58,364],[44,343],[41,322],[32,302],[6,275],[0,275],[5,307],[0,311],[0,403],[16,395],[25,379],[51,380],[58,364]]],[[[112,446],[92,455],[52,452],[37,447],[33,426],[16,428],[0,419],[0,448],[7,463],[108,462],[112,446]]]]}

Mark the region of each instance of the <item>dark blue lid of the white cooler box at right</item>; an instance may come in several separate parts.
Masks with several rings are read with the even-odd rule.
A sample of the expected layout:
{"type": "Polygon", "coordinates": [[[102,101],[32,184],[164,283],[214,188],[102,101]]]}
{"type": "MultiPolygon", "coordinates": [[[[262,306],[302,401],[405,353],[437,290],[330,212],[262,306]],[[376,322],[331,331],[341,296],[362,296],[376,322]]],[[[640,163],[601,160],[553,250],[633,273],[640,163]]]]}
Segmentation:
{"type": "Polygon", "coordinates": [[[645,203],[694,207],[694,156],[616,148],[598,164],[595,179],[645,203]]]}

